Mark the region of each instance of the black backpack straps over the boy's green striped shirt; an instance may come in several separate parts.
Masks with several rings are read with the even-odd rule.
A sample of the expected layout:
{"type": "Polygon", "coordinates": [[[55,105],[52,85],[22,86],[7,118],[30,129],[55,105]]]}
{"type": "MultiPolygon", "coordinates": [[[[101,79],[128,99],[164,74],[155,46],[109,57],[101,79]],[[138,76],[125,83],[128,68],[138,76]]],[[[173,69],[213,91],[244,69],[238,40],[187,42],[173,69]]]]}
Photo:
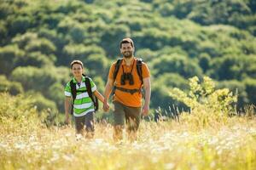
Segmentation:
{"type": "MultiPolygon", "coordinates": [[[[71,88],[71,94],[72,94],[73,102],[74,102],[74,100],[77,97],[77,92],[82,92],[82,93],[87,92],[89,97],[90,97],[90,99],[93,102],[94,110],[98,111],[98,109],[99,109],[98,99],[96,98],[96,96],[94,94],[92,94],[91,86],[90,86],[90,79],[89,79],[89,77],[86,77],[84,74],[83,74],[83,76],[85,77],[85,81],[84,82],[85,82],[86,90],[77,90],[76,84],[73,83],[73,80],[71,80],[69,82],[70,88],[71,88]]],[[[72,102],[72,110],[71,110],[71,114],[72,115],[73,115],[73,102],[72,102]]]]}

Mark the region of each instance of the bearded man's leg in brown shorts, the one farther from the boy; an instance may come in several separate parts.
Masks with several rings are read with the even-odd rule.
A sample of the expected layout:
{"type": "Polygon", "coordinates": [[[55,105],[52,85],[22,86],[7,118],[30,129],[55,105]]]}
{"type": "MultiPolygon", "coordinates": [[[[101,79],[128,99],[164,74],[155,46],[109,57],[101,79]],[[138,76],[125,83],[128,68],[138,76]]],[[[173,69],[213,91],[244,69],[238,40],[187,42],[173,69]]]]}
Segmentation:
{"type": "Polygon", "coordinates": [[[141,107],[125,107],[126,132],[132,142],[137,139],[137,129],[141,120],[141,107]]]}

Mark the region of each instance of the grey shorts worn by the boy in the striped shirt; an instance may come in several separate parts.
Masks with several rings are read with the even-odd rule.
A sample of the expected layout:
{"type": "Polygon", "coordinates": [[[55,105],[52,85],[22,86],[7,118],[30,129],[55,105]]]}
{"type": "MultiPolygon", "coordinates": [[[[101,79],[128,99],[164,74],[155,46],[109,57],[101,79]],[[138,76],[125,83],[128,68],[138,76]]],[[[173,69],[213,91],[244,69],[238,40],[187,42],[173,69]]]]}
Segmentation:
{"type": "Polygon", "coordinates": [[[94,112],[90,111],[84,116],[74,116],[75,127],[77,133],[82,133],[84,130],[86,132],[94,132],[94,112]]]}

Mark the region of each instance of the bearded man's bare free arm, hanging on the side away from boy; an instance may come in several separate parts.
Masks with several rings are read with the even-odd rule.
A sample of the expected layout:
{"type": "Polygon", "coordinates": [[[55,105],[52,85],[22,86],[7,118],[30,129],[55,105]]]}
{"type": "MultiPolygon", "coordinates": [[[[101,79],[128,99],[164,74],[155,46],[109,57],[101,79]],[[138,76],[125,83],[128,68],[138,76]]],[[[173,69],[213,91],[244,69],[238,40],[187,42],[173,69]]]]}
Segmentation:
{"type": "Polygon", "coordinates": [[[143,86],[145,89],[145,104],[143,105],[143,115],[147,116],[149,111],[149,101],[151,96],[150,77],[143,78],[143,86]]]}

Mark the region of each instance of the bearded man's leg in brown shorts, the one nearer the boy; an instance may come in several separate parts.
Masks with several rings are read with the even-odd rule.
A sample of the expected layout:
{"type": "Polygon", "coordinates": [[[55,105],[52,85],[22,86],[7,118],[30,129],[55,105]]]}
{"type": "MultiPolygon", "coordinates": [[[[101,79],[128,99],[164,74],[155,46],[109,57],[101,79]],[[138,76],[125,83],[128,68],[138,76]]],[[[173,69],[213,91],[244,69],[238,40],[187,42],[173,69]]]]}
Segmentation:
{"type": "Polygon", "coordinates": [[[117,101],[113,102],[113,140],[118,142],[123,139],[123,127],[125,125],[124,105],[117,101]]]}

